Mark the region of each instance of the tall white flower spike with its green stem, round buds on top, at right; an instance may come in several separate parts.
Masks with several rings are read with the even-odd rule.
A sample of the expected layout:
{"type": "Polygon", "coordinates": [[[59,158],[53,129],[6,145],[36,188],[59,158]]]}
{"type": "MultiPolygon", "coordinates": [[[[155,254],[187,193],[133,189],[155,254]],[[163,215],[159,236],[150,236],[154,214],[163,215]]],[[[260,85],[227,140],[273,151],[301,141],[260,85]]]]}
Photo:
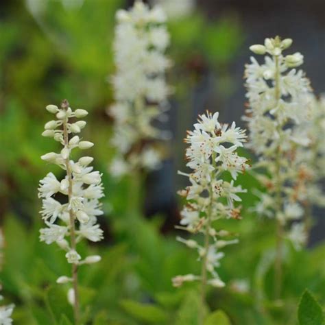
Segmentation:
{"type": "Polygon", "coordinates": [[[282,284],[282,252],[286,228],[292,220],[301,219],[303,208],[295,197],[300,176],[291,168],[292,148],[306,147],[306,134],[294,132],[295,125],[304,119],[311,102],[311,87],[304,73],[296,67],[303,63],[300,53],[283,56],[282,51],[291,46],[286,38],[266,38],[264,45],[252,45],[251,51],[265,56],[265,63],[255,58],[245,66],[247,115],[250,141],[248,147],[258,156],[256,178],[267,193],[258,193],[260,202],[256,212],[276,219],[275,297],[280,298],[282,284]]]}

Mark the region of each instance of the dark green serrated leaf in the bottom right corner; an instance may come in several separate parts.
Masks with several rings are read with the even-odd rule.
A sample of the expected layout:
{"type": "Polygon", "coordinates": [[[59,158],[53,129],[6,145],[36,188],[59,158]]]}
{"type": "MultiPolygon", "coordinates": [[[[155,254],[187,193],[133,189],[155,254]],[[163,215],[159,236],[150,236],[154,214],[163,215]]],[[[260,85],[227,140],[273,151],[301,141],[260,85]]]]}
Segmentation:
{"type": "Polygon", "coordinates": [[[302,294],[298,306],[298,320],[300,325],[323,325],[324,314],[320,304],[306,289],[302,294]]]}

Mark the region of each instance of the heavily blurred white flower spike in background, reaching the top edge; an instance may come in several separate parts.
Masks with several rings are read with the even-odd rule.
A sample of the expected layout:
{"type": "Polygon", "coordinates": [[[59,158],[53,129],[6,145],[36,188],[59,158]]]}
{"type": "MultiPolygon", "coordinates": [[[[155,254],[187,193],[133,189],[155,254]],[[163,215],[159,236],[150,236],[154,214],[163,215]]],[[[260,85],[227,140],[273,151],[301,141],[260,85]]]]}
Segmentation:
{"type": "Polygon", "coordinates": [[[166,17],[158,6],[149,9],[136,1],[130,10],[119,10],[116,18],[117,72],[112,77],[115,104],[108,114],[115,120],[112,145],[117,156],[110,172],[123,176],[137,167],[155,169],[160,164],[162,154],[157,140],[166,134],[152,122],[165,118],[170,92],[165,71],[171,62],[164,55],[169,45],[166,17]]]}

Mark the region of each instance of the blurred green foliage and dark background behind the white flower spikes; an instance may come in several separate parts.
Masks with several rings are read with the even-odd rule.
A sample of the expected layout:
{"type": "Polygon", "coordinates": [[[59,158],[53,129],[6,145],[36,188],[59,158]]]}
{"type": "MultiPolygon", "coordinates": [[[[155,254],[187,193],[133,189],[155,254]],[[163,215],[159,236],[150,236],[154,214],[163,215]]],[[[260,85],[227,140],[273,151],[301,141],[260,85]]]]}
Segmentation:
{"type": "MultiPolygon", "coordinates": [[[[294,38],[295,50],[306,54],[306,69],[312,82],[315,79],[317,93],[325,89],[325,78],[313,65],[324,58],[324,21],[315,21],[313,12],[306,12],[299,32],[299,27],[291,27],[300,17],[299,6],[289,6],[292,11],[285,20],[285,12],[275,19],[273,5],[265,5],[263,15],[269,14],[265,19],[258,3],[197,1],[197,7],[169,21],[168,55],[174,64],[167,80],[174,94],[164,128],[173,132],[173,142],[167,143],[170,156],[163,169],[142,180],[145,186],[139,194],[132,191],[132,178],[116,182],[107,173],[112,158],[108,145],[112,121],[106,108],[112,103],[108,78],[115,71],[114,16],[132,1],[1,1],[0,217],[5,237],[1,282],[5,302],[16,304],[16,324],[70,324],[67,288],[54,285],[58,276],[69,273],[69,265],[55,245],[38,241],[42,222],[37,199],[38,181],[53,171],[40,156],[58,149],[40,136],[49,119],[45,106],[67,98],[71,107],[90,112],[84,138],[95,143],[89,154],[104,173],[106,188],[105,215],[100,220],[105,240],[81,249],[103,256],[98,265],[80,269],[86,324],[196,325],[196,285],[171,287],[173,276],[194,273],[200,264],[194,252],[175,241],[173,230],[179,218],[175,193],[184,185],[176,171],[184,169],[185,130],[207,108],[219,110],[221,121],[241,123],[248,44],[282,31],[294,38]],[[314,29],[315,34],[310,33],[314,29]]],[[[315,12],[321,8],[318,3],[315,12]]],[[[248,192],[258,186],[249,175],[239,182],[248,192]]],[[[273,224],[250,213],[254,196],[242,197],[245,218],[225,224],[240,234],[241,242],[226,250],[220,275],[228,285],[209,292],[210,310],[223,309],[232,324],[297,324],[296,309],[306,287],[325,302],[325,245],[318,243],[308,252],[295,252],[287,245],[285,300],[273,302],[273,224]]],[[[324,225],[324,218],[321,222],[324,225]]],[[[324,228],[313,238],[322,236],[324,228]]]]}

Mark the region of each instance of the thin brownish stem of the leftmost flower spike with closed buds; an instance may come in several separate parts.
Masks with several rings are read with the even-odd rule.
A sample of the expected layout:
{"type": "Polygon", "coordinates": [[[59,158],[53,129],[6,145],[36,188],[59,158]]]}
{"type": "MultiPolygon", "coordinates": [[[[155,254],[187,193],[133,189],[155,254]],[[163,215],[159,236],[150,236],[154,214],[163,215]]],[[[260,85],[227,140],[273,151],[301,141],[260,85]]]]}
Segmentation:
{"type": "MultiPolygon", "coordinates": [[[[67,109],[69,107],[69,103],[67,101],[62,102],[62,108],[67,109]]],[[[64,144],[67,148],[69,148],[69,134],[67,129],[68,119],[66,118],[63,123],[63,136],[64,136],[64,144]]],[[[68,189],[68,198],[69,203],[71,202],[71,198],[73,196],[73,180],[72,180],[72,171],[70,165],[70,157],[65,160],[65,166],[67,169],[67,177],[69,181],[69,189],[68,189]]],[[[70,244],[71,250],[76,250],[76,238],[75,238],[75,216],[73,215],[73,210],[69,210],[69,218],[70,218],[70,244]]],[[[73,282],[73,293],[74,293],[74,304],[73,304],[73,315],[75,319],[75,325],[80,324],[80,306],[79,306],[79,291],[78,291],[78,278],[77,278],[77,264],[72,263],[72,282],[73,282]]]]}

